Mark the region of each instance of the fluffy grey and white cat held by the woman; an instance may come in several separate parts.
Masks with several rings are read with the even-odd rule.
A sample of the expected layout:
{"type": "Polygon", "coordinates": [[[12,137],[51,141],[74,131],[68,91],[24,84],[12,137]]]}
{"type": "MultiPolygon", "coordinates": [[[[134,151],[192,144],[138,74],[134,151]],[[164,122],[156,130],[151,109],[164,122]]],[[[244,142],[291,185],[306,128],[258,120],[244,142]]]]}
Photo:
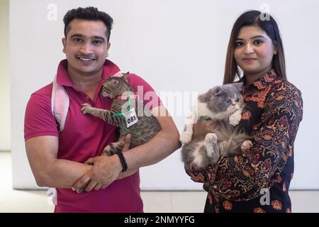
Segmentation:
{"type": "Polygon", "coordinates": [[[181,143],[184,143],[181,159],[185,165],[205,168],[216,163],[220,156],[245,153],[251,147],[250,136],[235,127],[245,105],[241,91],[242,83],[225,84],[198,96],[198,103],[187,116],[180,136],[181,143]],[[214,121],[213,133],[192,140],[193,125],[203,116],[214,121]]]}

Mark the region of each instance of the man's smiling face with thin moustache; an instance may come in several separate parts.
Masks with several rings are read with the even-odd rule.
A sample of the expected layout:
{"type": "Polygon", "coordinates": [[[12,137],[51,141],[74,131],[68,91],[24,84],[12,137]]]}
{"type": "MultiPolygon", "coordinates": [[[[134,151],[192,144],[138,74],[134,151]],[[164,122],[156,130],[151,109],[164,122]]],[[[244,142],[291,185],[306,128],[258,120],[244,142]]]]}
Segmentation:
{"type": "Polygon", "coordinates": [[[69,28],[67,37],[62,38],[68,72],[84,76],[101,73],[110,47],[104,23],[74,19],[69,23],[69,28]]]}

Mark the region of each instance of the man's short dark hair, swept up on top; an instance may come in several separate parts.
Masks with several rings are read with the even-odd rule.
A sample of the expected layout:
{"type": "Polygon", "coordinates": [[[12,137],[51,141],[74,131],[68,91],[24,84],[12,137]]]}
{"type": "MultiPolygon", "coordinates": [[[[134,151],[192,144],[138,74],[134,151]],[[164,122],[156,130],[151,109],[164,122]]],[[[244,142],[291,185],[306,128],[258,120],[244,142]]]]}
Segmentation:
{"type": "Polygon", "coordinates": [[[108,13],[104,13],[99,11],[95,7],[89,6],[86,8],[77,8],[71,9],[67,11],[65,17],[63,18],[63,22],[65,23],[65,38],[67,38],[67,33],[69,33],[69,23],[74,19],[83,19],[87,21],[102,21],[106,26],[106,38],[110,40],[111,29],[113,24],[113,18],[108,15],[108,13]]]}

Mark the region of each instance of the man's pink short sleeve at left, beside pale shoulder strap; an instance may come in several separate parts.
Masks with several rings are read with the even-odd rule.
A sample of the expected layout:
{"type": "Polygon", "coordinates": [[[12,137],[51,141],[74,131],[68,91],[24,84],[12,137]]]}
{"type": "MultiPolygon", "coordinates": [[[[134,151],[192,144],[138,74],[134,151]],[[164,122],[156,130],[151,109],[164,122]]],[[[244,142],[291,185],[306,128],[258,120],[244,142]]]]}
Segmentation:
{"type": "Polygon", "coordinates": [[[30,96],[24,117],[24,139],[41,135],[58,136],[57,124],[51,111],[52,84],[30,96]]]}

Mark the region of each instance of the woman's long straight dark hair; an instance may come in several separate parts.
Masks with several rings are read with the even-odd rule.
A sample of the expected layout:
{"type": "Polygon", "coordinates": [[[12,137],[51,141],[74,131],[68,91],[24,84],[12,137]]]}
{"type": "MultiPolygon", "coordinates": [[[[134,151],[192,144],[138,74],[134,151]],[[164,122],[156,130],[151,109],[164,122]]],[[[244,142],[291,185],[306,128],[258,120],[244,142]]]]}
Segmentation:
{"type": "Polygon", "coordinates": [[[286,79],[284,46],[282,45],[278,25],[269,14],[254,10],[242,13],[242,15],[237,18],[237,21],[235,21],[228,43],[223,84],[233,83],[236,76],[240,78],[240,69],[235,61],[234,49],[238,33],[244,26],[258,26],[272,39],[272,44],[277,50],[277,54],[272,58],[272,68],[279,77],[286,79]]]}

